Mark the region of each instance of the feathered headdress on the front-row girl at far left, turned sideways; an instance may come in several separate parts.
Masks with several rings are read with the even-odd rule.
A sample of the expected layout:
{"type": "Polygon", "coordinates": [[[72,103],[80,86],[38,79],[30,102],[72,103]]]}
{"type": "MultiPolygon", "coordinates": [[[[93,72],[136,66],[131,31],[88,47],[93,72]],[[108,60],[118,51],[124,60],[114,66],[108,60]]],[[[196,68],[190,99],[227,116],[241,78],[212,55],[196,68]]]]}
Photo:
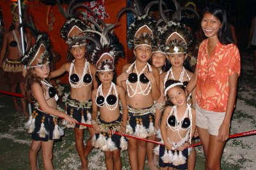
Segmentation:
{"type": "Polygon", "coordinates": [[[21,60],[22,64],[29,67],[38,67],[49,62],[52,57],[51,41],[45,32],[38,35],[35,45],[29,48],[21,60]]]}

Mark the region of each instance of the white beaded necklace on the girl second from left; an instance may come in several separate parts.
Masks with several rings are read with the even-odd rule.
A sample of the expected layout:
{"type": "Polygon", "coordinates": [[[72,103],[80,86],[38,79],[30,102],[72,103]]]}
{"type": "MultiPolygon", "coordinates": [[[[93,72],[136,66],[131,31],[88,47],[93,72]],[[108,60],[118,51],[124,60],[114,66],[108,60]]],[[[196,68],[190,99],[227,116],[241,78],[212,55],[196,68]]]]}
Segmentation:
{"type": "Polygon", "coordinates": [[[85,60],[85,62],[84,62],[84,70],[83,70],[82,76],[79,77],[78,74],[77,74],[77,76],[79,77],[79,81],[78,81],[77,83],[72,83],[72,81],[70,80],[70,76],[71,76],[72,73],[73,73],[73,67],[74,67],[74,73],[77,73],[77,72],[76,72],[75,65],[74,65],[74,62],[75,62],[75,60],[73,60],[73,61],[71,62],[71,64],[70,64],[69,76],[68,76],[68,81],[69,81],[71,87],[72,87],[72,88],[79,88],[79,87],[82,87],[82,86],[88,86],[88,85],[90,85],[90,84],[92,83],[92,81],[91,81],[90,83],[87,83],[87,84],[84,84],[84,82],[83,82],[83,78],[84,78],[84,75],[85,75],[86,73],[88,73],[88,74],[90,74],[90,75],[92,76],[92,73],[91,73],[91,70],[90,70],[90,64],[89,64],[89,62],[87,62],[86,60],[85,60]]]}

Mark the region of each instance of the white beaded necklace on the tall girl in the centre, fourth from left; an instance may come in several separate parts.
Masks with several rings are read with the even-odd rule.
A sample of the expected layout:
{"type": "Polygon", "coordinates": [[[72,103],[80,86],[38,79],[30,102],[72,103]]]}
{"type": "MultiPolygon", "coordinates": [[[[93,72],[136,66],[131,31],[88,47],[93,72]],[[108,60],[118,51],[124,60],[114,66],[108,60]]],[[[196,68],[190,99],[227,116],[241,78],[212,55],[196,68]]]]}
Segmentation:
{"type": "Polygon", "coordinates": [[[127,94],[128,94],[129,97],[133,97],[133,96],[135,96],[136,94],[143,94],[144,96],[147,96],[147,95],[149,94],[150,90],[151,90],[151,82],[148,81],[147,87],[146,87],[144,90],[142,90],[142,88],[141,88],[141,83],[140,83],[140,75],[141,75],[142,73],[144,73],[144,71],[145,71],[145,69],[146,69],[147,67],[148,67],[148,70],[149,70],[149,71],[152,71],[152,68],[151,68],[150,64],[147,63],[146,66],[142,69],[141,73],[139,74],[139,73],[138,73],[138,70],[137,70],[137,67],[136,67],[136,61],[135,61],[135,62],[133,62],[133,63],[131,64],[131,66],[128,67],[126,73],[129,73],[129,71],[131,71],[131,68],[132,68],[133,66],[134,66],[134,68],[135,68],[136,74],[138,75],[138,81],[136,82],[136,89],[133,89],[132,86],[131,86],[131,83],[129,82],[129,80],[126,80],[127,94]],[[129,87],[130,87],[130,89],[132,90],[133,94],[131,94],[131,93],[129,92],[129,87]],[[138,92],[139,89],[140,89],[140,92],[138,92]],[[146,90],[147,90],[147,92],[146,92],[146,90]]]}

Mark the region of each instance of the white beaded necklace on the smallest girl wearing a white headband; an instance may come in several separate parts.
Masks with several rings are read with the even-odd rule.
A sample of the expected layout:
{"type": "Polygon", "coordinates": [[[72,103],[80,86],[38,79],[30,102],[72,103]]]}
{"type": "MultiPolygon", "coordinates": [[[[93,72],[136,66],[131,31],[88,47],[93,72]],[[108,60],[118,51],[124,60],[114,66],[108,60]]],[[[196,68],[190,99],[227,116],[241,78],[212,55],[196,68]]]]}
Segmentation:
{"type": "Polygon", "coordinates": [[[192,112],[191,112],[190,104],[187,103],[187,109],[186,109],[186,111],[184,112],[184,114],[183,114],[183,116],[182,116],[182,118],[181,118],[180,121],[178,120],[177,106],[173,106],[172,110],[170,111],[169,116],[167,117],[167,122],[168,122],[168,118],[169,118],[170,116],[172,116],[172,115],[175,116],[175,126],[172,127],[172,126],[170,126],[169,124],[167,124],[168,127],[169,127],[172,131],[177,131],[177,132],[178,132],[179,137],[180,137],[180,141],[183,140],[184,138],[186,138],[186,136],[187,136],[188,133],[190,133],[190,134],[189,134],[189,136],[190,136],[189,140],[191,140],[191,132],[192,132],[191,125],[192,125],[193,122],[192,122],[192,112]],[[189,127],[187,127],[186,129],[184,129],[184,128],[181,127],[181,125],[183,124],[184,118],[186,118],[187,116],[188,116],[188,118],[189,118],[189,120],[190,120],[190,125],[189,125],[189,127]],[[184,138],[182,138],[182,137],[180,136],[180,130],[182,130],[182,131],[187,131],[186,136],[185,136],[184,138]]]}

